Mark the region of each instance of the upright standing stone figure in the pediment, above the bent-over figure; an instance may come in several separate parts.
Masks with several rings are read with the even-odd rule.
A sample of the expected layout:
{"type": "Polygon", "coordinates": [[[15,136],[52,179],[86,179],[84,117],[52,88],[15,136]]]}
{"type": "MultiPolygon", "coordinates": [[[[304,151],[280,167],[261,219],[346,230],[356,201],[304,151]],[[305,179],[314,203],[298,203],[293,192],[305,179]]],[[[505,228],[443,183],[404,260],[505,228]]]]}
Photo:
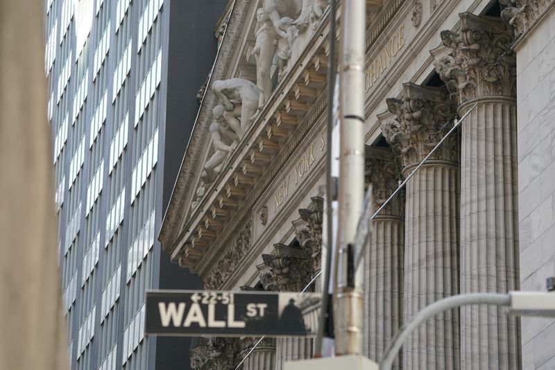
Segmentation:
{"type": "MultiPolygon", "coordinates": [[[[278,39],[284,38],[280,38],[277,32],[278,28],[273,25],[268,12],[266,12],[264,8],[259,8],[257,10],[256,17],[258,21],[255,29],[256,44],[252,53],[255,55],[256,60],[256,85],[261,92],[258,106],[262,107],[272,93],[270,71],[276,44],[278,43],[278,39]]],[[[287,34],[284,35],[287,37],[287,34]]],[[[284,59],[287,60],[287,58],[284,59]]]]}

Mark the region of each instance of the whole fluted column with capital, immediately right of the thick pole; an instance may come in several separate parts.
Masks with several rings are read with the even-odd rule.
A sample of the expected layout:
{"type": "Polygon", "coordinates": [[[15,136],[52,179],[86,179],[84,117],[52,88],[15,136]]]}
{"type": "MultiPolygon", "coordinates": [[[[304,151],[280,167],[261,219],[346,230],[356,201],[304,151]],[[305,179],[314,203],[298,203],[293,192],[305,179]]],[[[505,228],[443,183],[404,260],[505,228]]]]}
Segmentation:
{"type": "MultiPolygon", "coordinates": [[[[401,177],[393,152],[367,147],[365,177],[373,186],[377,210],[393,194],[401,177]]],[[[372,226],[364,260],[364,350],[370,360],[379,362],[403,321],[404,191],[386,205],[372,226]]],[[[400,360],[393,369],[400,369],[400,360]]]]}

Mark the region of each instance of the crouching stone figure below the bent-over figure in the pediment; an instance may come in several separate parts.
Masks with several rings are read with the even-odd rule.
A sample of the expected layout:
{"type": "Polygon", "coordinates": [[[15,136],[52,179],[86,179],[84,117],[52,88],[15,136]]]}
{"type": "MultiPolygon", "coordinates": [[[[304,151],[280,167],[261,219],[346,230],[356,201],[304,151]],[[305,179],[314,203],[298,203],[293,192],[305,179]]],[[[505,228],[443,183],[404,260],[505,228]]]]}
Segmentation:
{"type": "Polygon", "coordinates": [[[235,131],[240,127],[229,127],[228,121],[223,118],[223,106],[216,105],[212,113],[214,121],[210,124],[210,137],[216,151],[204,165],[203,178],[207,182],[214,181],[216,175],[221,172],[223,162],[239,142],[239,136],[235,131]]]}

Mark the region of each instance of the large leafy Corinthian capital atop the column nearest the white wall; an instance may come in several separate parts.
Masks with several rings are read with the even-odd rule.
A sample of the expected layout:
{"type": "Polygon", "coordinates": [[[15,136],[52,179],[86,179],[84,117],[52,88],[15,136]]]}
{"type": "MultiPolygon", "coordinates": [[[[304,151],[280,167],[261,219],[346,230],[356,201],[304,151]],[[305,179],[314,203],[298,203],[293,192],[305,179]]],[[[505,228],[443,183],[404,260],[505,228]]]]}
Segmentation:
{"type": "Polygon", "coordinates": [[[511,31],[492,17],[461,13],[461,31],[441,31],[445,52],[431,51],[436,71],[459,103],[486,96],[516,96],[511,31]],[[500,58],[502,55],[503,58],[500,58]]]}

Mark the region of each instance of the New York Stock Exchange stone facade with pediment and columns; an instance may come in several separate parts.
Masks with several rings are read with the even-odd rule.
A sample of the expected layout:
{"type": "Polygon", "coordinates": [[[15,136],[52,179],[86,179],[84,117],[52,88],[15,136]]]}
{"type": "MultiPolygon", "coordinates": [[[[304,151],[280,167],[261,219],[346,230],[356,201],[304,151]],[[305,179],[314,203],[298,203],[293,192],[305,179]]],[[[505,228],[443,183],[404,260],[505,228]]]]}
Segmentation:
{"type": "MultiPolygon", "coordinates": [[[[544,290],[555,274],[555,14],[548,0],[500,3],[497,13],[488,0],[368,10],[365,179],[374,208],[429,155],[372,223],[364,262],[372,360],[438,299],[544,290]]],[[[321,271],[329,7],[279,4],[237,0],[228,17],[216,61],[225,69],[207,82],[184,161],[199,166],[182,168],[160,234],[173,261],[210,289],[318,290],[309,282],[321,271]]],[[[407,340],[394,367],[549,368],[555,325],[522,323],[521,335],[520,319],[489,306],[443,312],[407,340]]],[[[216,369],[253,348],[233,340],[223,353],[218,343],[197,350],[212,351],[216,369]]],[[[312,346],[264,340],[244,368],[282,369],[312,346]]]]}

